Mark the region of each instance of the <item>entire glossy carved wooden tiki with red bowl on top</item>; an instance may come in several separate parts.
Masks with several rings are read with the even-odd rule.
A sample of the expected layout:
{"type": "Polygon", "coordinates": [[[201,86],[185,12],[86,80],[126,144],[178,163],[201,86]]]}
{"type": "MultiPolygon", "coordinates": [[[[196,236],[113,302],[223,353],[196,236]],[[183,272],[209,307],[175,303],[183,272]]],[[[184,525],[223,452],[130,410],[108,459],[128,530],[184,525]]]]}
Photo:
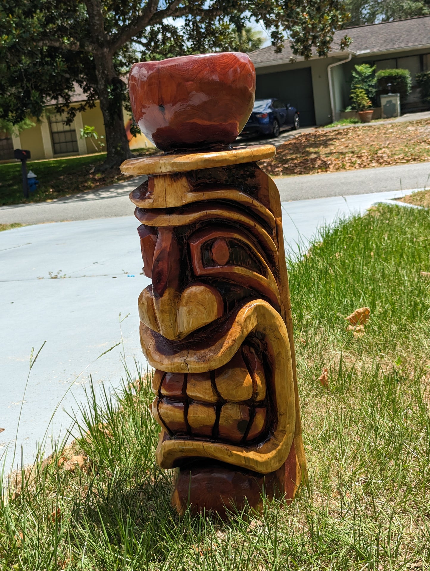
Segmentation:
{"type": "Polygon", "coordinates": [[[136,123],[163,155],[126,160],[144,274],[140,341],[154,367],[156,459],[177,468],[179,511],[294,498],[300,427],[279,192],[257,162],[275,147],[231,148],[252,111],[245,54],[136,63],[136,123]]]}

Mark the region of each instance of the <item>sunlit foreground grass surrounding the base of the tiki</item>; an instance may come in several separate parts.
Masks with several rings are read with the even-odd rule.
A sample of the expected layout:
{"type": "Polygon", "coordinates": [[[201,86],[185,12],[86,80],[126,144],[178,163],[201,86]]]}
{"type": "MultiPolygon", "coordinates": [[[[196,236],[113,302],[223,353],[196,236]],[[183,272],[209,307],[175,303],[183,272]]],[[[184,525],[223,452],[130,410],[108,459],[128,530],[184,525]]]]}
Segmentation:
{"type": "Polygon", "coordinates": [[[373,208],[325,228],[288,264],[310,472],[298,500],[227,522],[177,516],[172,472],[154,461],[149,381],[127,372],[116,395],[88,395],[66,449],[87,457],[83,469],[58,467],[59,451],[3,496],[0,568],[429,568],[429,212],[373,208]],[[363,335],[347,332],[344,317],[363,306],[363,335]],[[250,517],[261,525],[248,528],[250,517]]]}

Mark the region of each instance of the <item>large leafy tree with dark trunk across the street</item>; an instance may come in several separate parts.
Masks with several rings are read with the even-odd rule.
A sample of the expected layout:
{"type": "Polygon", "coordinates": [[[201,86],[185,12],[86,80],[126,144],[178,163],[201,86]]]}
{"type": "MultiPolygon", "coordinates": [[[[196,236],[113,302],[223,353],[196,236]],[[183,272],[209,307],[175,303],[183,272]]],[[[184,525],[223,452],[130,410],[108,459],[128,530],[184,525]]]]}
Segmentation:
{"type": "Polygon", "coordinates": [[[122,109],[131,63],[230,50],[232,30],[240,40],[251,18],[277,50],[287,34],[294,54],[309,58],[328,53],[348,15],[341,0],[3,0],[0,117],[38,118],[52,102],[71,121],[99,99],[113,166],[130,154],[122,109]],[[75,85],[87,100],[70,107],[75,85]]]}

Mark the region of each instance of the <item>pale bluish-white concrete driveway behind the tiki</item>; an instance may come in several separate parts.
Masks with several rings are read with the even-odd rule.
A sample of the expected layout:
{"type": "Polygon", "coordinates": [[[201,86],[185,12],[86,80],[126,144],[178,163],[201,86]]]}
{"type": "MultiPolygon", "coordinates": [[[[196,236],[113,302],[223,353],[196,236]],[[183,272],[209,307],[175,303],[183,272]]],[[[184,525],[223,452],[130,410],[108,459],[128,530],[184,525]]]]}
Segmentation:
{"type": "MultiPolygon", "coordinates": [[[[397,191],[283,203],[287,251],[307,248],[321,224],[399,195],[397,191]]],[[[114,199],[98,204],[105,208],[109,200],[114,199]]],[[[133,370],[135,358],[146,370],[139,347],[137,299],[149,280],[140,274],[139,223],[128,199],[124,204],[128,216],[0,232],[0,428],[5,428],[0,433],[0,456],[9,446],[8,465],[21,405],[18,460],[22,447],[23,460],[30,463],[45,435],[47,453],[53,439],[67,435],[70,417],[63,407],[71,412],[85,402],[90,375],[98,395],[103,387],[107,393],[118,387],[124,376],[122,345],[98,357],[120,343],[120,327],[128,365],[133,370]],[[44,341],[23,399],[31,348],[37,351],[44,341]]]]}

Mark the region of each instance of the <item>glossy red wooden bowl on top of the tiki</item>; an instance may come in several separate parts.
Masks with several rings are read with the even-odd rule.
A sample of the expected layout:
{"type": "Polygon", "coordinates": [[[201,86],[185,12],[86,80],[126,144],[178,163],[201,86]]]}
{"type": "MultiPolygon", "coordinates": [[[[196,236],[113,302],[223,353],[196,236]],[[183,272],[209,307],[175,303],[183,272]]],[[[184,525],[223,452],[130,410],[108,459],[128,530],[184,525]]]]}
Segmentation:
{"type": "Polygon", "coordinates": [[[136,123],[158,148],[223,147],[251,114],[255,68],[242,53],[134,63],[128,90],[136,123]]]}

